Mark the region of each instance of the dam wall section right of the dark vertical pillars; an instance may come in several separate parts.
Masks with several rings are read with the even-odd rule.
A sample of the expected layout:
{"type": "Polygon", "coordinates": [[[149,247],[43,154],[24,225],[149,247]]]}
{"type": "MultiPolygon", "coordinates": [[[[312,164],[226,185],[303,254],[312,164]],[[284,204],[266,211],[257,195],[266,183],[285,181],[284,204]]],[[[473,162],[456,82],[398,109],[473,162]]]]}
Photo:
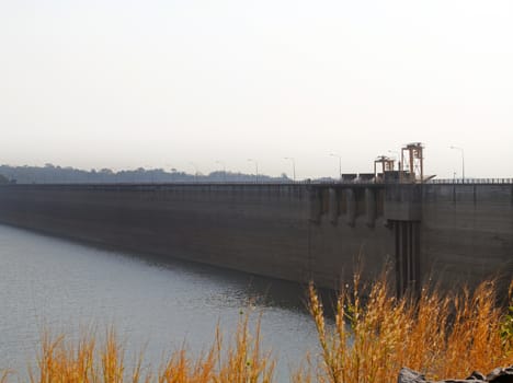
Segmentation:
{"type": "Polygon", "coordinates": [[[423,185],[421,268],[446,283],[513,279],[513,184],[423,185]]]}

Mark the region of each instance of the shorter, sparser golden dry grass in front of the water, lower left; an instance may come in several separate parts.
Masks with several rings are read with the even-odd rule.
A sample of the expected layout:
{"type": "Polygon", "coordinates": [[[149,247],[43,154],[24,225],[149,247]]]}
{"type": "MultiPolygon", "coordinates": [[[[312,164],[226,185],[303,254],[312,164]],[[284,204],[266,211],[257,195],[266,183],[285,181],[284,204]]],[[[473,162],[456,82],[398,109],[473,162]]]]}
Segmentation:
{"type": "MultiPolygon", "coordinates": [[[[102,346],[88,333],[78,341],[46,333],[42,339],[37,370],[29,370],[31,383],[270,383],[273,381],[274,359],[262,352],[260,320],[250,332],[249,316],[240,320],[233,339],[224,348],[217,332],[208,352],[193,358],[182,348],[168,359],[153,375],[144,368],[142,356],[129,369],[125,350],[110,329],[102,346]]],[[[0,383],[7,382],[0,374],[0,383]]]]}

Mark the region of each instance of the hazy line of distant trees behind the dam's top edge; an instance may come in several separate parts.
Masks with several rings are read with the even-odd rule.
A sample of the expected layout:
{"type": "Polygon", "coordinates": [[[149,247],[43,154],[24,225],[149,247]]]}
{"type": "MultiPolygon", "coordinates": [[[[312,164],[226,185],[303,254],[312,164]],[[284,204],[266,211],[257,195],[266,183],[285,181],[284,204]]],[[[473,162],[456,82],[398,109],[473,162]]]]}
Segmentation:
{"type": "Polygon", "coordinates": [[[88,184],[88,183],[290,183],[283,173],[280,177],[263,174],[243,174],[216,171],[209,174],[189,174],[172,169],[144,169],[113,171],[101,169],[91,171],[53,164],[45,166],[0,165],[0,184],[88,184]]]}

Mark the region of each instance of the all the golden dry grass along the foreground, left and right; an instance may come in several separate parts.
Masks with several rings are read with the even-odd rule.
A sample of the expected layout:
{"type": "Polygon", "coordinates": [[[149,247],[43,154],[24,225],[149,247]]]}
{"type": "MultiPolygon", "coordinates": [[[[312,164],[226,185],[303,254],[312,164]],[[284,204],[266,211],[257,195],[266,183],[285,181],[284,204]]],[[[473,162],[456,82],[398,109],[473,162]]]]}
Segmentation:
{"type": "MultiPolygon", "coordinates": [[[[334,323],[327,324],[322,302],[310,285],[310,312],[321,355],[314,361],[307,357],[290,381],[395,382],[402,367],[440,380],[513,364],[513,307],[505,313],[494,305],[493,282],[458,294],[425,288],[418,299],[397,299],[391,291],[386,274],[368,289],[361,287],[356,275],[353,286],[338,298],[334,323]]],[[[217,332],[208,351],[193,358],[182,348],[157,373],[144,363],[142,355],[135,363],[126,363],[125,350],[112,328],[103,343],[96,339],[94,332],[77,341],[46,333],[37,368],[29,371],[30,382],[273,382],[275,360],[261,350],[260,321],[250,332],[248,315],[241,316],[227,346],[217,332]]],[[[0,370],[0,383],[11,375],[15,378],[0,370]]]]}

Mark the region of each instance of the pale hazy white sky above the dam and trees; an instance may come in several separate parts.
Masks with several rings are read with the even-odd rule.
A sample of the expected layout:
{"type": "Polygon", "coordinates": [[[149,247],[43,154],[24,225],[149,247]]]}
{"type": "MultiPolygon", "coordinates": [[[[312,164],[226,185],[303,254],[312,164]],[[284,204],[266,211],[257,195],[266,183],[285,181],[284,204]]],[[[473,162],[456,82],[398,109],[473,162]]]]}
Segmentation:
{"type": "Polygon", "coordinates": [[[0,1],[0,163],[513,177],[513,2],[0,1]]]}

